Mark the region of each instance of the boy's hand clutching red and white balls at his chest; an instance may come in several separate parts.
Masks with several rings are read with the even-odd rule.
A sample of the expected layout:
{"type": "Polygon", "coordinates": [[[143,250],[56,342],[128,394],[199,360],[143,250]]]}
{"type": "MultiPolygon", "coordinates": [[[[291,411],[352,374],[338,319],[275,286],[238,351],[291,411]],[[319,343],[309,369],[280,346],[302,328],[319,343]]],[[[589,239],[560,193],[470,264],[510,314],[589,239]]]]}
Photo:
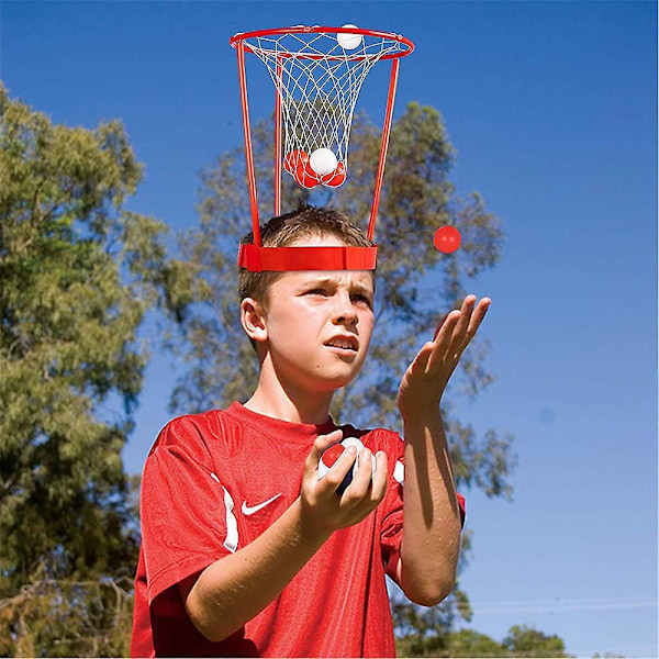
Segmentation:
{"type": "MultiPolygon", "coordinates": [[[[321,454],[343,439],[343,431],[334,431],[328,435],[319,435],[304,462],[300,501],[305,521],[322,533],[332,534],[338,528],[346,528],[365,520],[384,499],[387,492],[387,455],[376,454],[376,473],[371,480],[372,465],[370,451],[359,460],[359,469],[353,482],[343,494],[336,489],[346,473],[353,469],[357,451],[348,447],[330,471],[319,480],[319,459],[321,454]]],[[[368,451],[368,449],[365,449],[368,451]]]]}

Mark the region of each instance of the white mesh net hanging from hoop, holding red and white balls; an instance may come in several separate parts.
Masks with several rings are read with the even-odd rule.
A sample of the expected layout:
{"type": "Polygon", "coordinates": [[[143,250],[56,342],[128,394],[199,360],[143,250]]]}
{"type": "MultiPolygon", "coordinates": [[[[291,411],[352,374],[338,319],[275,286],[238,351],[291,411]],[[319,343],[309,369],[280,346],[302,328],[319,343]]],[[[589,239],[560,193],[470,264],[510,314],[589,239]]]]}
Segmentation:
{"type": "Polygon", "coordinates": [[[383,36],[291,32],[245,38],[281,98],[283,168],[304,188],[337,187],[361,85],[373,65],[406,46],[383,36]]]}

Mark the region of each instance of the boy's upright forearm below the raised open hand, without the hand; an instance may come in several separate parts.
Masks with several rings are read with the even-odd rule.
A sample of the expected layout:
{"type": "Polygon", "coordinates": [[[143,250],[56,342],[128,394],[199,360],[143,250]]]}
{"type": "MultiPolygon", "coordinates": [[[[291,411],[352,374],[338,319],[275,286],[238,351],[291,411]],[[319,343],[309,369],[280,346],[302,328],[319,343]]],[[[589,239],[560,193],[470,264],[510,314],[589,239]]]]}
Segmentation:
{"type": "Polygon", "coordinates": [[[460,554],[460,512],[439,409],[403,418],[405,496],[401,587],[427,606],[453,591],[460,554]]]}

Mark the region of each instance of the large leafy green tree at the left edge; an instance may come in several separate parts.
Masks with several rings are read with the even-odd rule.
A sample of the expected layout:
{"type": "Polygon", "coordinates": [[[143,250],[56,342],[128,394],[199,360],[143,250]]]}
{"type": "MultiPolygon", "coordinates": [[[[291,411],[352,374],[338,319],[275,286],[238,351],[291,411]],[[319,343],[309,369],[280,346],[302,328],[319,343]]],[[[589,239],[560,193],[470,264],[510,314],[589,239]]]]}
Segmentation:
{"type": "Polygon", "coordinates": [[[182,320],[193,271],[123,209],[142,165],[120,121],[54,126],[1,83],[0,114],[0,654],[125,654],[138,331],[182,320]]]}

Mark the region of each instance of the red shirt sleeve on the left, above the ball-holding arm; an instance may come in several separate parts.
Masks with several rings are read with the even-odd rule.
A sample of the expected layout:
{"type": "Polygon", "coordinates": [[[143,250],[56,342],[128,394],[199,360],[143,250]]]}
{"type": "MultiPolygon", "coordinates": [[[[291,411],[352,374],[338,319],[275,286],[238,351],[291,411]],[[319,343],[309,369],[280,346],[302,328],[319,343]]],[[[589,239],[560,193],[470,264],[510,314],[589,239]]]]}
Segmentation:
{"type": "Polygon", "coordinates": [[[189,417],[167,424],[146,459],[141,525],[149,604],[235,551],[233,500],[189,417]]]}

